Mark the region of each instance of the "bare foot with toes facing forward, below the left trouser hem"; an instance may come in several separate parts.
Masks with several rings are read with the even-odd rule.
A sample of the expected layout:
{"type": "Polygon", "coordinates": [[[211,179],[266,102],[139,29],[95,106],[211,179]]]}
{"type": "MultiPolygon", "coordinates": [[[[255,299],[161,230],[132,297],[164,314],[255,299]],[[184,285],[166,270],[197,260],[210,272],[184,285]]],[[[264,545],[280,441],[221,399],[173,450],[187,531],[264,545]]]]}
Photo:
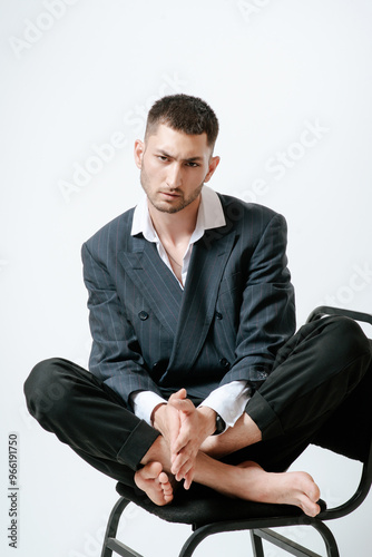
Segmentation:
{"type": "Polygon", "coordinates": [[[173,486],[160,462],[144,466],[135,473],[135,482],[159,507],[173,500],[173,486]]]}

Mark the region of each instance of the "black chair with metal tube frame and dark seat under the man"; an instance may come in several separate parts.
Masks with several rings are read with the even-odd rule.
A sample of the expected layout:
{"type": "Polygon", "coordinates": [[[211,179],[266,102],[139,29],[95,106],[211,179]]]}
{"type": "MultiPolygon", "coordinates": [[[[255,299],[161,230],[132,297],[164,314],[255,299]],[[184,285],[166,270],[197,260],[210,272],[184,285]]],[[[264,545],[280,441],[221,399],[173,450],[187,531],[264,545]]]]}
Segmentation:
{"type": "MultiPolygon", "coordinates": [[[[309,316],[307,322],[325,315],[345,315],[356,321],[372,324],[371,314],[327,306],[320,306],[314,310],[309,316]]],[[[371,481],[372,442],[369,456],[363,461],[361,480],[355,494],[346,502],[333,509],[326,509],[324,501],[320,501],[322,510],[315,518],[307,517],[297,507],[229,499],[195,483],[189,491],[180,490],[177,494],[177,499],[172,505],[158,507],[147,497],[138,496],[134,489],[123,483],[117,483],[117,491],[121,497],[115,505],[109,517],[101,557],[111,557],[112,551],[121,557],[141,557],[137,551],[116,539],[120,516],[130,501],[169,522],[192,525],[193,534],[185,541],[178,557],[189,557],[193,555],[195,548],[207,536],[236,530],[251,530],[254,557],[264,557],[263,539],[295,557],[321,557],[319,554],[271,529],[303,525],[312,526],[320,532],[329,557],[339,557],[337,544],[332,531],[324,522],[344,517],[354,511],[365,499],[371,487],[371,481]]]]}

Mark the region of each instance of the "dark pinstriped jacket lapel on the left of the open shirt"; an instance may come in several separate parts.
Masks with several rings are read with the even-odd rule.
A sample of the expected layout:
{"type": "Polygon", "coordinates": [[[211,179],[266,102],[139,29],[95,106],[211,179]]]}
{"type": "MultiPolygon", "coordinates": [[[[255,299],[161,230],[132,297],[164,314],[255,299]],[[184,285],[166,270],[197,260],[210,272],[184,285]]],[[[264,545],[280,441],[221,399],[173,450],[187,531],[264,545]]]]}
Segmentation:
{"type": "Polygon", "coordinates": [[[134,236],[133,251],[120,252],[118,257],[157,319],[174,335],[183,291],[173,273],[161,262],[156,244],[134,236]]]}

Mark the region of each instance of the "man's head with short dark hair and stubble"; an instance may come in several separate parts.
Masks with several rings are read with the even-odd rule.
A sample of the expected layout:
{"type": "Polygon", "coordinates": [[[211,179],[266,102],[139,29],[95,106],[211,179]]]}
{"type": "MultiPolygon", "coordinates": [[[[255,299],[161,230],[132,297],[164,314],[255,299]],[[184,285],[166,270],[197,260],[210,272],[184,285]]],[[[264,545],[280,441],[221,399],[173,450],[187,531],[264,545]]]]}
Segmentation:
{"type": "Polygon", "coordinates": [[[213,156],[217,133],[214,111],[198,98],[174,95],[155,102],[145,140],[135,143],[135,160],[150,211],[197,209],[203,185],[219,163],[213,156]]]}

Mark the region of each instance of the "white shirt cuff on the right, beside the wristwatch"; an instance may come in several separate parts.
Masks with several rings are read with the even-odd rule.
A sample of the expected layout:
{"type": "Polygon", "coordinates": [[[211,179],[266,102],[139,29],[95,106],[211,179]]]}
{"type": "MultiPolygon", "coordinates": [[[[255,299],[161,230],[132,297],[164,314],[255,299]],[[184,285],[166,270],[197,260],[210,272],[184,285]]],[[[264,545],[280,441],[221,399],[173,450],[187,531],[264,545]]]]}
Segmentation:
{"type": "Polygon", "coordinates": [[[251,387],[248,387],[246,381],[238,380],[217,387],[199,407],[208,407],[217,412],[226,423],[224,430],[226,431],[227,428],[232,428],[241,418],[249,399],[251,387]]]}

